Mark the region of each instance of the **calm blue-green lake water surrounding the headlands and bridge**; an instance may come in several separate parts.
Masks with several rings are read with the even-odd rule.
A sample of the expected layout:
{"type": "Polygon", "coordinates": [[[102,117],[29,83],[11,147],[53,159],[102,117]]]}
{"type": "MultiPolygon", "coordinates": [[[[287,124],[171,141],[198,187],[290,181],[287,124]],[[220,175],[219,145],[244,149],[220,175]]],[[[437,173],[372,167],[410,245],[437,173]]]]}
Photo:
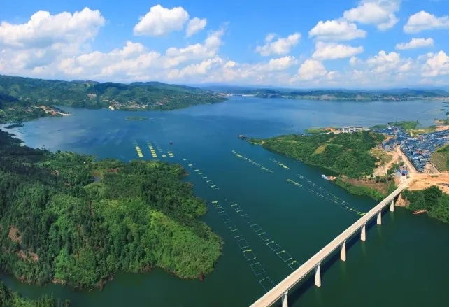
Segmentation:
{"type": "MultiPolygon", "coordinates": [[[[445,106],[430,101],[341,103],[234,97],[224,103],[171,112],[64,108],[74,116],[27,122],[11,131],[27,145],[45,145],[52,151],[74,150],[128,161],[138,159],[134,148],[137,142],[143,159],[152,159],[147,145],[150,141],[158,159],[178,162],[189,171],[187,180],[194,183],[194,192],[209,204],[204,220],[224,238],[225,245],[218,266],[203,282],[181,280],[160,269],[149,274],[117,273],[103,291],[73,290],[60,285],[36,287],[4,274],[0,278],[29,297],[53,294],[70,299],[73,306],[248,306],[264,294],[270,281],[276,284],[291,273],[290,266],[295,266],[292,262],[304,263],[357,220],[357,214],[329,199],[337,197],[361,212],[375,202],[352,196],[322,180],[323,171],[317,167],[294,162],[236,136],[301,133],[311,126],[369,127],[395,120],[419,120],[420,124],[429,125],[435,117],[443,117],[446,112],[440,109],[445,106]],[[150,118],[126,120],[134,115],[150,118]],[[173,152],[173,157],[167,155],[167,150],[173,152]],[[273,172],[237,157],[232,150],[273,172]],[[283,169],[272,159],[290,169],[283,169]],[[203,174],[198,175],[199,172],[203,174]],[[287,179],[311,190],[301,190],[287,179]],[[215,208],[212,201],[219,201],[222,209],[215,208]],[[222,210],[227,215],[220,215],[218,211],[222,210]],[[232,226],[235,228],[228,229],[232,226]],[[238,229],[238,233],[232,229],[238,229]],[[237,235],[241,237],[234,238],[237,235]],[[241,239],[244,241],[237,241],[241,239]]],[[[347,259],[326,262],[322,287],[311,285],[311,280],[295,287],[289,296],[290,306],[360,306],[361,302],[364,306],[448,304],[447,224],[398,208],[384,215],[380,227],[371,225],[366,242],[355,240],[347,259]]]]}

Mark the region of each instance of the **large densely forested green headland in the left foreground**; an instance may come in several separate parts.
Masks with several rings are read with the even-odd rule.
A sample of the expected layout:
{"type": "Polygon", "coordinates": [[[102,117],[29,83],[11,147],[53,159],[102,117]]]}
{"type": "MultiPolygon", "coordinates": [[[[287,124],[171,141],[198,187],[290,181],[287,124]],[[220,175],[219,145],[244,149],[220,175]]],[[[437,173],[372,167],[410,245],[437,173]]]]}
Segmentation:
{"type": "Polygon", "coordinates": [[[117,270],[213,270],[222,241],[198,220],[206,204],[181,166],[93,159],[21,146],[0,130],[1,271],[93,287],[117,270]]]}

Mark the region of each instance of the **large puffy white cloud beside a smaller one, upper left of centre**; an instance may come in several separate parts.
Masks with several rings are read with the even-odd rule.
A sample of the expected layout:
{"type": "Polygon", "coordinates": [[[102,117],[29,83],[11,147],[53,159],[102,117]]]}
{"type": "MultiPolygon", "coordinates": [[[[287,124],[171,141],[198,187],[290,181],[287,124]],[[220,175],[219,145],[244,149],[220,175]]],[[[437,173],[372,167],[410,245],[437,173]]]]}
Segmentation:
{"type": "Polygon", "coordinates": [[[181,31],[189,20],[189,13],[184,8],[164,8],[160,4],[152,6],[145,16],[140,17],[134,26],[134,34],[162,36],[172,31],[181,31]]]}

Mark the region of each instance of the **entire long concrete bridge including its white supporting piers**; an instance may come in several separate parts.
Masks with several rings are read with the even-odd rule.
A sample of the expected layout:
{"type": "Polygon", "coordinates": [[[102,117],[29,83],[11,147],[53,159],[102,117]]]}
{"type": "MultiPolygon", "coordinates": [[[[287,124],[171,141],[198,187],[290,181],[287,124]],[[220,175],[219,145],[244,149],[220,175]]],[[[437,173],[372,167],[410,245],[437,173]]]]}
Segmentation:
{"type": "Polygon", "coordinates": [[[317,252],[311,259],[308,259],[303,265],[301,265],[296,271],[287,276],[278,285],[273,287],[269,292],[266,292],[263,297],[255,301],[250,307],[268,307],[276,303],[278,299],[282,299],[283,307],[287,307],[287,293],[288,290],[292,289],[294,285],[299,283],[301,279],[306,277],[313,269],[315,269],[315,285],[321,286],[321,273],[320,264],[321,262],[334,252],[338,247],[341,248],[341,260],[346,260],[346,240],[355,234],[359,229],[361,230],[360,236],[361,240],[365,241],[365,229],[366,222],[369,222],[371,218],[377,215],[377,224],[381,222],[382,209],[390,204],[390,211],[394,210],[394,198],[397,197],[402,190],[404,190],[410,183],[410,179],[401,183],[396,190],[394,190],[390,195],[388,195],[383,201],[380,201],[374,208],[369,210],[368,213],[359,218],[354,224],[352,224],[348,229],[339,234],[334,240],[327,244],[322,250],[317,252]]]}

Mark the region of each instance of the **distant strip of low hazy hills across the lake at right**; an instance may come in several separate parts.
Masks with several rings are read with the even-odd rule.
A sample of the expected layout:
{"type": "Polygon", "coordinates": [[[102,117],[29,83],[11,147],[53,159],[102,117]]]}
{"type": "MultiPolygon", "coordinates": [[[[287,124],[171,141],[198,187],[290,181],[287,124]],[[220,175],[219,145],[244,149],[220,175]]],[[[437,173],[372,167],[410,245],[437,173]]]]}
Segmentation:
{"type": "Polygon", "coordinates": [[[290,90],[213,86],[208,89],[229,94],[255,94],[260,98],[290,98],[311,100],[336,101],[410,101],[420,99],[434,99],[449,97],[443,90],[381,90],[381,91],[354,91],[354,90],[290,90]]]}

